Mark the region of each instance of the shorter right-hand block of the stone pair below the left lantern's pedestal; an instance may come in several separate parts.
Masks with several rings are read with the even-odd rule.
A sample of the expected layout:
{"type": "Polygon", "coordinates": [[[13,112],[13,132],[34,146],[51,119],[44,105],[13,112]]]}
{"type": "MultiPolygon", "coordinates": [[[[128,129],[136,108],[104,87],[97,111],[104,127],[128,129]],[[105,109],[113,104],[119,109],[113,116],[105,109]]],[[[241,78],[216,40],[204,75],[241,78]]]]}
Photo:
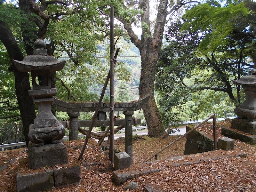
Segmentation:
{"type": "Polygon", "coordinates": [[[55,188],[61,188],[69,185],[79,185],[81,183],[80,165],[68,166],[65,168],[54,169],[55,188]]]}

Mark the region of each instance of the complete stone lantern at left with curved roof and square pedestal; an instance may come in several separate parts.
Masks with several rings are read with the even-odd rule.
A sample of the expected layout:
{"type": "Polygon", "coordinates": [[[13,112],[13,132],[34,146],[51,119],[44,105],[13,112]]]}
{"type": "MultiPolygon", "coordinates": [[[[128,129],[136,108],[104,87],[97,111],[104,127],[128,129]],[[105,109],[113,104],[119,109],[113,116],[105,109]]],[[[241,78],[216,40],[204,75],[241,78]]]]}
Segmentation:
{"type": "Polygon", "coordinates": [[[67,148],[61,143],[65,127],[51,111],[57,89],[51,87],[50,79],[50,72],[61,70],[66,61],[47,55],[46,44],[41,38],[36,40],[34,46],[34,55],[28,55],[22,61],[13,60],[19,71],[31,72],[33,90],[28,92],[38,106],[38,114],[34,124],[29,126],[28,133],[28,139],[32,142],[28,146],[29,168],[33,169],[68,163],[67,148]]]}

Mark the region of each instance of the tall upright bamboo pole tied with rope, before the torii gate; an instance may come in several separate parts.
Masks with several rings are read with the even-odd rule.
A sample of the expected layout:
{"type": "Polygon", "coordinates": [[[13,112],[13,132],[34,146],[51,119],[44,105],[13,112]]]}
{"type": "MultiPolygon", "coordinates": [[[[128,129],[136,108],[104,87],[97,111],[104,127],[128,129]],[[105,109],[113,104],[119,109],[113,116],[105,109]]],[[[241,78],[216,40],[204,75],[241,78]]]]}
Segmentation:
{"type": "Polygon", "coordinates": [[[109,158],[114,163],[114,7],[110,8],[110,146],[109,158]]]}

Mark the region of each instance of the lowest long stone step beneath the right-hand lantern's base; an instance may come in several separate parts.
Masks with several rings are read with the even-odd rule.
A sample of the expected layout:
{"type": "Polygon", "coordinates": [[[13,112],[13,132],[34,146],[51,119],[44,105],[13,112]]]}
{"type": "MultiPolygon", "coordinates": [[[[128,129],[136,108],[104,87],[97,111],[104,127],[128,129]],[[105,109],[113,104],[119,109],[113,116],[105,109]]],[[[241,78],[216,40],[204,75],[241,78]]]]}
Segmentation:
{"type": "Polygon", "coordinates": [[[221,134],[232,139],[239,139],[240,141],[250,143],[252,145],[256,144],[256,136],[246,135],[243,132],[237,132],[225,126],[221,126],[221,134]]]}

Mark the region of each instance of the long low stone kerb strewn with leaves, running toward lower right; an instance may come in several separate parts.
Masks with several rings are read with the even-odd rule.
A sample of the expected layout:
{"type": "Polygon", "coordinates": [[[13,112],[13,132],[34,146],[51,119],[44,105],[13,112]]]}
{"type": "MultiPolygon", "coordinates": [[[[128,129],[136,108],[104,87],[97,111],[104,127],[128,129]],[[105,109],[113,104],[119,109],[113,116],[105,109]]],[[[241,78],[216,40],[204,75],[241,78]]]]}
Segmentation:
{"type": "Polygon", "coordinates": [[[170,167],[170,166],[179,167],[181,165],[198,164],[198,163],[203,163],[207,161],[218,160],[218,159],[229,158],[229,157],[236,157],[236,156],[245,157],[247,156],[247,154],[237,149],[237,150],[229,151],[228,154],[224,150],[215,150],[215,151],[208,151],[208,152],[195,154],[195,155],[192,154],[192,155],[171,157],[166,159],[164,161],[164,164],[159,164],[160,161],[158,160],[158,161],[152,161],[152,162],[145,162],[142,164],[136,164],[136,168],[134,167],[133,169],[116,170],[113,172],[112,179],[116,185],[121,185],[129,179],[140,177],[145,174],[160,172],[160,171],[163,171],[166,167],[170,167]],[[197,158],[197,156],[199,156],[200,158],[197,158]],[[191,161],[191,159],[193,159],[193,161],[191,161]]]}

